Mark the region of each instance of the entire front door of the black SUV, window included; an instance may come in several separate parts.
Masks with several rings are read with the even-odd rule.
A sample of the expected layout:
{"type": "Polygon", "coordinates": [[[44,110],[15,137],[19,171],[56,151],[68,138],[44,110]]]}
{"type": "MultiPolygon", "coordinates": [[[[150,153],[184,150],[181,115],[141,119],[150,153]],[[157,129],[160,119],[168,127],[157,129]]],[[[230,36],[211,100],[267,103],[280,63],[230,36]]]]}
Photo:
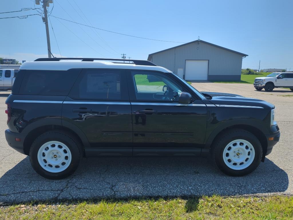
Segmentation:
{"type": "Polygon", "coordinates": [[[129,71],[127,78],[133,155],[199,155],[206,133],[207,106],[195,99],[192,104],[179,104],[179,94],[186,89],[170,74],[129,71]],[[156,99],[160,95],[161,100],[156,99]]]}

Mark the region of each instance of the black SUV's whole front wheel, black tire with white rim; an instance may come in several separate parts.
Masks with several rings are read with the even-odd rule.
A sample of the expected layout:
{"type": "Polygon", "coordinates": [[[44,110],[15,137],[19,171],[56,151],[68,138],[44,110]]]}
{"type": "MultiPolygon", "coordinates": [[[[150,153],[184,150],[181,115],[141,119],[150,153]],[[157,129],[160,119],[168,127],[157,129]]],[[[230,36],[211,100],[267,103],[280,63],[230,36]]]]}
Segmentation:
{"type": "Polygon", "coordinates": [[[217,137],[211,156],[217,167],[230,176],[244,176],[258,167],[263,149],[258,138],[243,129],[228,130],[217,137]]]}

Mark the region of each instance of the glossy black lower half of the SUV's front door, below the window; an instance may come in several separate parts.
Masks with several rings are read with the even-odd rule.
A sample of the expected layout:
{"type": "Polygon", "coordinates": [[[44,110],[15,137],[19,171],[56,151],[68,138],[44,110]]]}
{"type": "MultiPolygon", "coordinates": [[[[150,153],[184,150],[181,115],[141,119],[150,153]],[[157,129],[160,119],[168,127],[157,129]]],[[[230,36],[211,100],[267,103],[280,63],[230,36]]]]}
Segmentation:
{"type": "Polygon", "coordinates": [[[131,102],[134,143],[195,147],[204,142],[207,107],[193,104],[131,102]],[[145,111],[145,112],[144,112],[145,111]]]}

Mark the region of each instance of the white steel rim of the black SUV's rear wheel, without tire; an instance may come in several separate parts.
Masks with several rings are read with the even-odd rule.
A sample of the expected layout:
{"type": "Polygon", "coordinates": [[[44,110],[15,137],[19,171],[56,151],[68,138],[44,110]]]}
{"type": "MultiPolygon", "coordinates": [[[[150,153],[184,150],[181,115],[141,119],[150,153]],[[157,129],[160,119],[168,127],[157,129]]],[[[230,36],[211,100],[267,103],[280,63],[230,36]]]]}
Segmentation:
{"type": "Polygon", "coordinates": [[[52,173],[66,170],[71,163],[71,152],[62,142],[49,141],[38,150],[38,162],[40,166],[52,173]]]}

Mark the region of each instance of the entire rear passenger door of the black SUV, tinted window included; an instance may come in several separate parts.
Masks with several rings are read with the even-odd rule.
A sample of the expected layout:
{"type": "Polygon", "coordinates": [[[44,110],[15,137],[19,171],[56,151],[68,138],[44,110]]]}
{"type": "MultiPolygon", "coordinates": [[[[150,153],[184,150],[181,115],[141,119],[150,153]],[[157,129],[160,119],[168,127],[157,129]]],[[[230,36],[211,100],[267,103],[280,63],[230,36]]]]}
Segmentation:
{"type": "Polygon", "coordinates": [[[85,133],[91,146],[87,156],[132,155],[125,70],[83,70],[64,100],[62,119],[85,133]]]}

